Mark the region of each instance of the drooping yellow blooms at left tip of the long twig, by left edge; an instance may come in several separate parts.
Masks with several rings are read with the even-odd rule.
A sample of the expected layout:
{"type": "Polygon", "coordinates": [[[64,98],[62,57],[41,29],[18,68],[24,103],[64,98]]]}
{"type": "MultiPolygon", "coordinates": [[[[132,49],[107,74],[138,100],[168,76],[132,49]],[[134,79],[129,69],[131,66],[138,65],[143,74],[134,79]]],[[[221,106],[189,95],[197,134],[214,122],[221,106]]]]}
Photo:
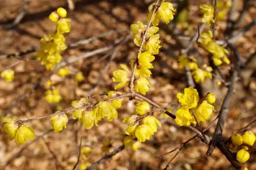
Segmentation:
{"type": "Polygon", "coordinates": [[[15,139],[16,144],[25,144],[28,140],[35,139],[35,134],[32,128],[25,125],[18,125],[18,118],[13,116],[13,118],[3,117],[0,118],[0,122],[4,122],[2,128],[3,132],[8,134],[8,139],[15,139]]]}

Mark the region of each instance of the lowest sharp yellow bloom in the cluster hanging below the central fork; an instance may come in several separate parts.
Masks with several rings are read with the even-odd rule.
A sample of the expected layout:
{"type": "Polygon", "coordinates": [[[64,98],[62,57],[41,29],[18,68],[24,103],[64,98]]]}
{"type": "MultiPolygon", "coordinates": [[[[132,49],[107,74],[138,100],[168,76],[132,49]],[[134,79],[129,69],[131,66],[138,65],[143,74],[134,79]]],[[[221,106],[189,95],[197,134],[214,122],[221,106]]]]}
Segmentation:
{"type": "Polygon", "coordinates": [[[139,125],[136,128],[135,136],[139,142],[145,142],[146,140],[149,140],[151,136],[153,135],[153,130],[149,127],[149,125],[143,124],[139,125]]]}

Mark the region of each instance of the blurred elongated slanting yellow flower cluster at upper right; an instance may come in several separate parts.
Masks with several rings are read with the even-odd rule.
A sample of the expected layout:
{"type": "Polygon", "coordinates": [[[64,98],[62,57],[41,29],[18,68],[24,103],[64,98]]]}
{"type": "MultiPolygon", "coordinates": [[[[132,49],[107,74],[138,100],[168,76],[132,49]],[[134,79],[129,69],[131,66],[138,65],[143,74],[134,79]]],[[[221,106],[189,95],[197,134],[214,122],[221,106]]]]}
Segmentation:
{"type": "Polygon", "coordinates": [[[229,54],[228,50],[212,40],[212,32],[210,30],[207,33],[202,33],[201,38],[203,47],[212,54],[215,65],[221,65],[223,62],[230,64],[230,60],[226,56],[229,54]]]}

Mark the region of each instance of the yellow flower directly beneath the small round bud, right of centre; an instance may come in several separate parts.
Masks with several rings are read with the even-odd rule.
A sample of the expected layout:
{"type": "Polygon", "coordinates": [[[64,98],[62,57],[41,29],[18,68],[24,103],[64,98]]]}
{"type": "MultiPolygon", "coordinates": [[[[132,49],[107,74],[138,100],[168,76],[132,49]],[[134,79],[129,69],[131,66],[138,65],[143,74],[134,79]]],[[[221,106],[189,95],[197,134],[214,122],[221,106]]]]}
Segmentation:
{"type": "Polygon", "coordinates": [[[197,118],[198,122],[206,122],[211,118],[212,112],[214,110],[214,106],[207,103],[206,100],[202,101],[202,103],[197,107],[195,111],[195,118],[197,118]]]}

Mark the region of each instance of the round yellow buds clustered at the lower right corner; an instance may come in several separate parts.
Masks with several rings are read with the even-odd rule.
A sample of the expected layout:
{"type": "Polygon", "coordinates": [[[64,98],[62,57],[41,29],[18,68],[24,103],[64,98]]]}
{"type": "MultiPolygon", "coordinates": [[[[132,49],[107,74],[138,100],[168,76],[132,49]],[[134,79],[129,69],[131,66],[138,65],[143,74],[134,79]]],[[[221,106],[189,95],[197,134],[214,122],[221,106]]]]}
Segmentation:
{"type": "Polygon", "coordinates": [[[236,153],[236,160],[240,163],[245,163],[250,158],[250,152],[248,147],[252,147],[255,143],[256,137],[252,131],[244,133],[233,133],[231,136],[230,149],[238,150],[236,153]]]}

